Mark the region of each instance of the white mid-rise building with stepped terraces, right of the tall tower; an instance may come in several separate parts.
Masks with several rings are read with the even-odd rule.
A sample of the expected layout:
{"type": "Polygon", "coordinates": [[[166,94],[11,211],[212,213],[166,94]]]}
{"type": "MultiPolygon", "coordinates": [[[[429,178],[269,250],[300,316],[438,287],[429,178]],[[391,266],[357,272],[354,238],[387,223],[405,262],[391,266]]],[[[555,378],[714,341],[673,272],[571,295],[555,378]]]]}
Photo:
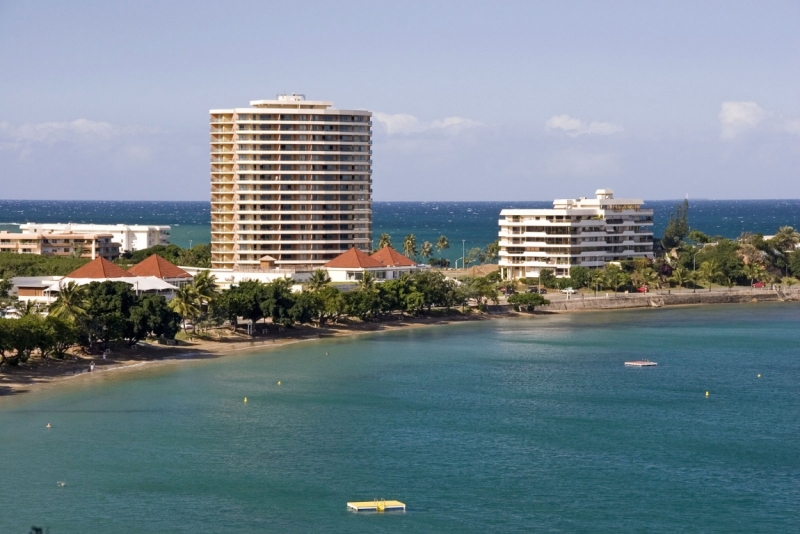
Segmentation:
{"type": "Polygon", "coordinates": [[[553,209],[500,212],[500,270],[503,278],[538,277],[550,269],[568,277],[577,265],[653,258],[653,210],[641,199],[614,198],[598,189],[595,198],[557,199],[553,209]]]}

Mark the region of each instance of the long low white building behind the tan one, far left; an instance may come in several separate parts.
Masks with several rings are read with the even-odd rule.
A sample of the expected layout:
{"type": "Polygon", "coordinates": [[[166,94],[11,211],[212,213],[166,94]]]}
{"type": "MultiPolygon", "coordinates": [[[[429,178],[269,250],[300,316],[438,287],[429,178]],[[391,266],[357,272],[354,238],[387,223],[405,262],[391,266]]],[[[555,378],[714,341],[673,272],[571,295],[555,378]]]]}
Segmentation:
{"type": "Polygon", "coordinates": [[[168,245],[169,226],[143,224],[77,224],[77,223],[26,223],[20,230],[28,233],[75,232],[111,234],[119,243],[120,252],[143,250],[155,245],[168,245]]]}

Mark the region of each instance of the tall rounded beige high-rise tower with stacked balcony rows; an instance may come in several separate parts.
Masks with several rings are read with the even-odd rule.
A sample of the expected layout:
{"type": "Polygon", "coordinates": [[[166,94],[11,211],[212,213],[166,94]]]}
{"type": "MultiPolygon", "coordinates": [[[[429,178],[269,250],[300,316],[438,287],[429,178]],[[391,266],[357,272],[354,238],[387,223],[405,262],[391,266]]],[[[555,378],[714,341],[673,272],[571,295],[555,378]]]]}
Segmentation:
{"type": "Polygon", "coordinates": [[[303,95],[213,109],[211,264],[313,270],[372,237],[372,122],[303,95]]]}

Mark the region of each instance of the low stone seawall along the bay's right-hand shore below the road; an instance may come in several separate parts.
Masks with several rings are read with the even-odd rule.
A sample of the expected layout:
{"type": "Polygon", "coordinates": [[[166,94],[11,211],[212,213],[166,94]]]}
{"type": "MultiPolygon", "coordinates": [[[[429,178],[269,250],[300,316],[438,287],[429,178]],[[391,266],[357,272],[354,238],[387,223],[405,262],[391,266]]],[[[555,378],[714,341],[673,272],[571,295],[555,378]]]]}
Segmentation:
{"type": "Polygon", "coordinates": [[[628,308],[661,308],[663,306],[687,306],[692,304],[740,304],[747,302],[783,302],[800,300],[796,292],[784,291],[698,291],[697,293],[654,293],[647,295],[613,293],[608,297],[557,300],[547,306],[539,306],[537,311],[572,312],[582,310],[619,310],[628,308]]]}

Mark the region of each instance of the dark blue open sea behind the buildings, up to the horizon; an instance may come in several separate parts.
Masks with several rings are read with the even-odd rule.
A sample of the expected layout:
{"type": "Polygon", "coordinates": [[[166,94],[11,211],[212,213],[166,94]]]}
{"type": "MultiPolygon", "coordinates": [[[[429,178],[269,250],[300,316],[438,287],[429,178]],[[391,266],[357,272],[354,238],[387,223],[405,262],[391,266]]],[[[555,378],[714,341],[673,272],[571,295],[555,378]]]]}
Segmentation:
{"type": "MultiPolygon", "coordinates": [[[[680,200],[648,201],[655,210],[655,233],[661,235],[680,200]]],[[[549,208],[552,201],[375,202],[373,237],[386,232],[395,244],[407,234],[417,243],[446,235],[451,260],[461,247],[483,247],[497,239],[503,208],[549,208]],[[462,243],[462,240],[464,242],[462,243]]],[[[800,228],[800,200],[691,200],[689,223],[710,235],[735,238],[744,231],[774,234],[784,225],[800,228]]],[[[169,224],[172,241],[181,246],[210,239],[208,202],[116,202],[0,200],[0,230],[17,231],[23,222],[169,224]]]]}

